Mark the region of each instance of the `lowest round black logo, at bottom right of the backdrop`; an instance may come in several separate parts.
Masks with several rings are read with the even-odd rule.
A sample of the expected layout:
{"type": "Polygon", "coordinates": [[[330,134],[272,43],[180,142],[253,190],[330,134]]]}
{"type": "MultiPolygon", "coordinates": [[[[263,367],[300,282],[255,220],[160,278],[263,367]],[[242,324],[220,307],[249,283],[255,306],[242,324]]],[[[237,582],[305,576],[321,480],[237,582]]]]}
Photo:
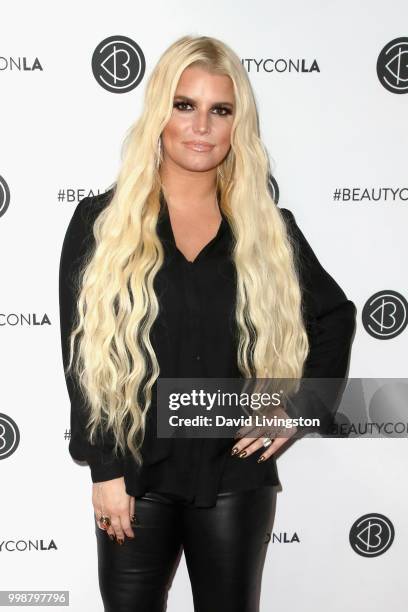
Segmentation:
{"type": "Polygon", "coordinates": [[[350,529],[350,545],[362,557],[378,557],[394,540],[394,526],[383,514],[365,514],[350,529]]]}

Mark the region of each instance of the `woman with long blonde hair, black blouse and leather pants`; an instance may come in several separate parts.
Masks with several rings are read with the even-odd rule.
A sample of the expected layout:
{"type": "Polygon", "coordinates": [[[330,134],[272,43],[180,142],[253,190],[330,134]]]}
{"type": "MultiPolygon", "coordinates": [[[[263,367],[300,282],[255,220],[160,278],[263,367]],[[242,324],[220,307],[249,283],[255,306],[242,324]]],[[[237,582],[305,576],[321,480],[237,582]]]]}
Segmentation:
{"type": "Polygon", "coordinates": [[[186,36],[150,77],[114,188],[73,213],[60,265],[69,448],[91,470],[105,610],[165,610],[182,550],[195,609],[259,610],[274,454],[297,430],[160,438],[156,386],[344,379],[355,306],[268,178],[239,58],[186,36]]]}

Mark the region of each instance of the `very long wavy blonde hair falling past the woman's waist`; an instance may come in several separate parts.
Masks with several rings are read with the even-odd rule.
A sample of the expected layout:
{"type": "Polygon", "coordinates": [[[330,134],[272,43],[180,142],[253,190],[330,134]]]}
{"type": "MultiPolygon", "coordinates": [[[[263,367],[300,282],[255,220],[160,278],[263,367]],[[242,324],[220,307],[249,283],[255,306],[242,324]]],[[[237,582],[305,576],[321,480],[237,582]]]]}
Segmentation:
{"type": "Polygon", "coordinates": [[[234,87],[231,147],[217,168],[217,191],[234,238],[239,370],[243,378],[298,379],[309,350],[292,243],[269,190],[269,160],[248,75],[220,40],[184,36],[154,68],[142,114],[124,140],[113,197],[94,223],[95,245],[80,270],[77,325],[70,335],[67,371],[74,363],[89,406],[91,444],[105,428],[114,435],[115,454],[128,447],[139,465],[160,373],[149,337],[159,312],[153,283],[164,261],[156,233],[159,139],[181,73],[192,65],[228,75],[234,87]]]}

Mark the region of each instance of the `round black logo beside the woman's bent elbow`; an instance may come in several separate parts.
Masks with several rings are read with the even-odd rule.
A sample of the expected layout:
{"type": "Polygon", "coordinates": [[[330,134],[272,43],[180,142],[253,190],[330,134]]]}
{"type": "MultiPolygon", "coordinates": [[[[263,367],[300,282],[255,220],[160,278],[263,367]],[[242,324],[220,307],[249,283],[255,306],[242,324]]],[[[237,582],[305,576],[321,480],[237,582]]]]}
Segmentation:
{"type": "Polygon", "coordinates": [[[367,300],[361,313],[365,330],[374,338],[395,338],[407,326],[408,303],[396,291],[378,291],[367,300]]]}

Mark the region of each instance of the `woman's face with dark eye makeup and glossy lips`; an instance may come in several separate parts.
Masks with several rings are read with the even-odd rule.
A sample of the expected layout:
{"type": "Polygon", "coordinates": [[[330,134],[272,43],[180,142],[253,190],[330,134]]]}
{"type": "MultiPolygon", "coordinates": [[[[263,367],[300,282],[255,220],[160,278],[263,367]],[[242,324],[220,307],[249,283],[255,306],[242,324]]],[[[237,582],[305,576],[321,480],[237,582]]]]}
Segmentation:
{"type": "Polygon", "coordinates": [[[216,168],[231,146],[233,113],[234,91],[228,76],[197,66],[186,68],[162,132],[163,162],[195,172],[216,168]]]}

